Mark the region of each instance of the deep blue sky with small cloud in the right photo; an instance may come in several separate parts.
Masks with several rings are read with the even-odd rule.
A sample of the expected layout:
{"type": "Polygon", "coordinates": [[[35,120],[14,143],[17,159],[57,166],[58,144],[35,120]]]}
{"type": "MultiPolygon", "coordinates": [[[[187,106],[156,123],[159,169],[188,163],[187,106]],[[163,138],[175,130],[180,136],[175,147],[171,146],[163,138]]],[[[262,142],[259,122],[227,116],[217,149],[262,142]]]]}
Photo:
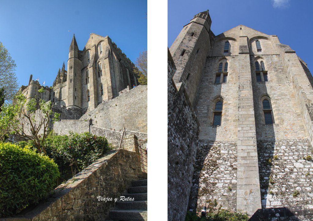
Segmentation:
{"type": "Polygon", "coordinates": [[[313,1],[311,0],[168,0],[168,47],[194,15],[209,10],[215,35],[240,24],[277,35],[307,63],[313,74],[313,1]]]}

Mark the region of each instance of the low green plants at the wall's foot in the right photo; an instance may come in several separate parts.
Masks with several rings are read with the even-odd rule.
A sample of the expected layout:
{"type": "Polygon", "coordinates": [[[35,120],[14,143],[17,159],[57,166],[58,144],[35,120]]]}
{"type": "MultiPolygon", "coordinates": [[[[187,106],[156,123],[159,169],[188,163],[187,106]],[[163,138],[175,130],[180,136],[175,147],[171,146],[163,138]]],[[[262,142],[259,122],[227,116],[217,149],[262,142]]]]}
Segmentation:
{"type": "Polygon", "coordinates": [[[249,220],[247,213],[232,213],[221,209],[218,213],[207,213],[206,217],[198,217],[195,213],[187,212],[185,221],[246,221],[249,220]]]}

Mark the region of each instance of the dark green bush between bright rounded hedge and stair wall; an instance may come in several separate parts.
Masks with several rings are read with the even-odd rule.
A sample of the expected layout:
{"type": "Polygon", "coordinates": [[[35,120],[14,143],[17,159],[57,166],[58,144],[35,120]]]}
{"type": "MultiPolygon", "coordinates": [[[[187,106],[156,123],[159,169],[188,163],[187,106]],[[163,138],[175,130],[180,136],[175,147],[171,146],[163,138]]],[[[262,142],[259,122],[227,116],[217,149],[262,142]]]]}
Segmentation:
{"type": "Polygon", "coordinates": [[[69,136],[50,133],[44,146],[47,155],[59,165],[63,179],[80,172],[112,149],[105,137],[88,132],[69,136]]]}

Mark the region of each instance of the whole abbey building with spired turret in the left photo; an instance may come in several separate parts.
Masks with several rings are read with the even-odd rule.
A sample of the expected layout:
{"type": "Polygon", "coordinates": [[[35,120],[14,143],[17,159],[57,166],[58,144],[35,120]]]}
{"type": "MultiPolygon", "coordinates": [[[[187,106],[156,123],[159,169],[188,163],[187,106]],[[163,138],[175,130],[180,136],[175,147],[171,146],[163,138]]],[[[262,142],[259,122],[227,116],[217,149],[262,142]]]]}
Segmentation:
{"type": "Polygon", "coordinates": [[[133,73],[135,65],[106,36],[90,34],[83,50],[78,49],[75,36],[69,47],[67,70],[65,64],[59,69],[53,86],[42,86],[32,75],[27,86],[21,86],[19,92],[27,99],[51,100],[54,104],[67,109],[78,109],[82,113],[95,109],[100,103],[111,100],[119,92],[138,84],[133,73]]]}

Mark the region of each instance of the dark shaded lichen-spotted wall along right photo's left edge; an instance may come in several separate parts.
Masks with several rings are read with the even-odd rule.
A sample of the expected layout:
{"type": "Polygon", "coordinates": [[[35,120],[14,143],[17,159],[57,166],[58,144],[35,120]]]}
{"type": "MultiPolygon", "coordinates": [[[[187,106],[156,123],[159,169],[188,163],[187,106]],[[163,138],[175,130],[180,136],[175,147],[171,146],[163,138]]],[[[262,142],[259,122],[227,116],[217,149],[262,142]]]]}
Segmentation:
{"type": "Polygon", "coordinates": [[[184,87],[177,91],[172,81],[176,67],[168,52],[168,220],[184,220],[192,183],[199,125],[184,87]]]}

